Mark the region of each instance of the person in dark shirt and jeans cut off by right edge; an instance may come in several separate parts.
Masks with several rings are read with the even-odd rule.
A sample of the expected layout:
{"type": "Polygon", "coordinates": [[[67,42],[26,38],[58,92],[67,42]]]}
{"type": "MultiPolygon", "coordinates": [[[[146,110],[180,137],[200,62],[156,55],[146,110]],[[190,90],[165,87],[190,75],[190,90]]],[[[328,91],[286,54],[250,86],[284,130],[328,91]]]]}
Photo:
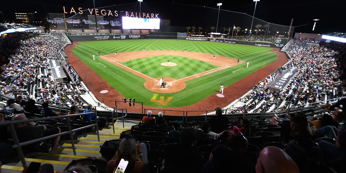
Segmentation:
{"type": "Polygon", "coordinates": [[[331,157],[346,158],[346,131],[342,130],[339,133],[335,144],[320,140],[318,142],[318,154],[320,162],[328,161],[331,157]]]}

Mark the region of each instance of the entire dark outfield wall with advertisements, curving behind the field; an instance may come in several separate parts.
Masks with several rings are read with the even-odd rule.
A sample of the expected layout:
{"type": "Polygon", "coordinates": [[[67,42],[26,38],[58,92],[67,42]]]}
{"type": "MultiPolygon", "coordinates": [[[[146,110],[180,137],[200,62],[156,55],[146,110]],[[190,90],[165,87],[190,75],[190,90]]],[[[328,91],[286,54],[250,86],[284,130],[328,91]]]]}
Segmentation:
{"type": "Polygon", "coordinates": [[[263,47],[283,47],[289,39],[287,38],[275,38],[275,42],[256,42],[246,40],[234,40],[234,39],[220,39],[220,38],[208,38],[208,37],[186,37],[186,33],[170,33],[170,32],[158,32],[150,34],[97,34],[97,35],[70,35],[67,36],[72,41],[97,41],[97,40],[120,40],[120,39],[181,39],[181,40],[195,40],[195,41],[211,41],[230,44],[244,44],[252,46],[263,47]]]}

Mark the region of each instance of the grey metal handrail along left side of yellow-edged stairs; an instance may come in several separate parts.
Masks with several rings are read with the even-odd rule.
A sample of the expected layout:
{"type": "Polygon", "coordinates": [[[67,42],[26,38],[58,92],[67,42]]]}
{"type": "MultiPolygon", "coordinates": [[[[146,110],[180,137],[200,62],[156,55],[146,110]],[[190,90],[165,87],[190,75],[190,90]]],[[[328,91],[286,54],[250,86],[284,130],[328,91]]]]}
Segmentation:
{"type": "Polygon", "coordinates": [[[9,125],[9,129],[10,129],[13,141],[15,143],[15,145],[13,145],[12,147],[13,148],[17,148],[17,152],[18,152],[18,155],[19,155],[19,158],[20,158],[20,161],[21,161],[21,164],[22,164],[23,167],[26,165],[26,161],[25,161],[24,153],[23,153],[21,147],[25,146],[25,145],[34,144],[34,143],[40,142],[42,140],[51,139],[51,138],[54,138],[54,137],[57,137],[57,136],[69,134],[70,135],[70,140],[71,140],[71,145],[72,145],[72,150],[73,150],[73,155],[76,155],[76,149],[75,149],[75,146],[74,146],[74,140],[73,140],[73,136],[72,136],[73,132],[79,131],[79,130],[83,130],[83,129],[86,129],[86,128],[90,128],[90,127],[94,127],[94,126],[96,127],[97,139],[100,142],[100,135],[99,135],[99,126],[98,126],[98,122],[97,122],[97,115],[94,112],[78,113],[78,114],[73,114],[73,115],[64,115],[64,116],[56,116],[56,117],[33,118],[33,119],[25,119],[25,120],[15,120],[15,121],[3,121],[3,122],[0,122],[0,126],[5,126],[5,125],[9,125]],[[77,116],[88,115],[88,114],[94,114],[94,118],[95,118],[95,123],[94,124],[71,130],[70,117],[77,117],[77,116]],[[17,136],[14,124],[25,123],[25,122],[43,121],[43,120],[51,120],[51,119],[61,119],[61,118],[66,118],[67,128],[69,129],[68,131],[62,132],[60,134],[50,135],[50,136],[46,136],[46,137],[42,137],[42,138],[33,139],[33,140],[29,140],[29,141],[26,141],[26,142],[19,143],[19,139],[18,139],[18,136],[17,136]]]}

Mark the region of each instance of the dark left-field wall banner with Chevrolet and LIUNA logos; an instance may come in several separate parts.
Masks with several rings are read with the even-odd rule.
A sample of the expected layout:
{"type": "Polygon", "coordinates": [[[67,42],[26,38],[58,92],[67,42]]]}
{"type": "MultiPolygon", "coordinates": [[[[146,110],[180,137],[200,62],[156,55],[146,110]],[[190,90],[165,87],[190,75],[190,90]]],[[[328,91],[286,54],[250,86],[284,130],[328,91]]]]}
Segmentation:
{"type": "Polygon", "coordinates": [[[104,34],[104,35],[69,35],[72,41],[91,41],[91,40],[120,40],[120,39],[141,39],[147,38],[146,34],[104,34]]]}

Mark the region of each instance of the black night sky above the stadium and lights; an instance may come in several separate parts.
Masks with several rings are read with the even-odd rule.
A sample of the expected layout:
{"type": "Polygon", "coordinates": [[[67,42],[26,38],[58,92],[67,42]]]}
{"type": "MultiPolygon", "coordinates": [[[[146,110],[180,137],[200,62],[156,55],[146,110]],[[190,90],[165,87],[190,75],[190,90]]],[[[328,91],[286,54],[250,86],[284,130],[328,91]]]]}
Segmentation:
{"type": "MultiPolygon", "coordinates": [[[[44,16],[46,12],[63,12],[65,7],[93,8],[92,0],[14,0],[2,1],[0,11],[0,22],[12,20],[15,12],[34,12],[44,16]]],[[[217,25],[218,6],[220,7],[218,28],[239,26],[250,28],[252,15],[255,7],[253,0],[143,0],[141,3],[142,12],[160,13],[161,19],[170,19],[171,26],[201,26],[207,28],[217,25]],[[200,7],[201,6],[201,7],[200,7]],[[205,7],[204,7],[205,6],[205,7]],[[212,9],[215,8],[215,9],[212,9]],[[246,13],[247,15],[228,12],[223,10],[246,13]]],[[[106,9],[118,11],[139,11],[137,0],[95,0],[96,7],[112,6],[106,9]],[[130,3],[130,4],[127,4],[130,3]],[[119,5],[126,4],[126,5],[119,5]]],[[[294,32],[303,33],[328,33],[344,32],[345,25],[344,0],[261,0],[257,2],[255,17],[263,21],[254,20],[254,24],[280,24],[289,26],[294,18],[294,32]],[[313,20],[317,21],[315,31],[312,31],[313,20]]]]}

